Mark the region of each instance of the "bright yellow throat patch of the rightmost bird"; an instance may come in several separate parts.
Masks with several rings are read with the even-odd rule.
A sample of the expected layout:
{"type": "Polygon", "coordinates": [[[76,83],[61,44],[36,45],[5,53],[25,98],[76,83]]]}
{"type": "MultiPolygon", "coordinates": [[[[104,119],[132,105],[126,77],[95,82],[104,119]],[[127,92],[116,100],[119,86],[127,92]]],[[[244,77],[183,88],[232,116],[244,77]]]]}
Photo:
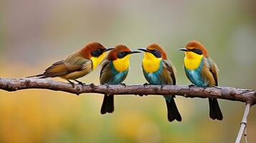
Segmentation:
{"type": "Polygon", "coordinates": [[[184,66],[186,69],[194,70],[201,64],[203,55],[194,53],[193,51],[186,51],[184,57],[184,66]]]}

